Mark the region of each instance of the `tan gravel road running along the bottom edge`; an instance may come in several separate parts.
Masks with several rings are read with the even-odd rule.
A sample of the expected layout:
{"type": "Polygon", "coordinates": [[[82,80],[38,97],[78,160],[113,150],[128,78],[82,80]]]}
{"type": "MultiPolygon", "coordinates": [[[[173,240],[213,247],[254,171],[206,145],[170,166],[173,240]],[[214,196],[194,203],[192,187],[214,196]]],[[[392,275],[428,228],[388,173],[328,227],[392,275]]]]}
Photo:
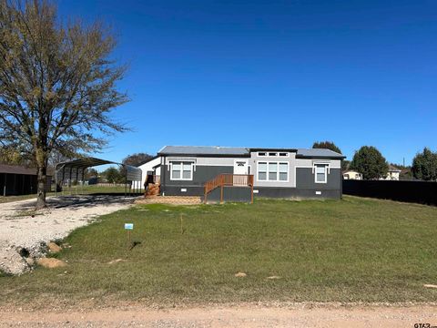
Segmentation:
{"type": "MultiPolygon", "coordinates": [[[[1,310],[1,309],[0,309],[1,310]]],[[[0,311],[0,328],[20,327],[414,327],[437,324],[433,306],[268,308],[257,305],[205,306],[180,310],[84,309],[83,312],[0,311]]]]}

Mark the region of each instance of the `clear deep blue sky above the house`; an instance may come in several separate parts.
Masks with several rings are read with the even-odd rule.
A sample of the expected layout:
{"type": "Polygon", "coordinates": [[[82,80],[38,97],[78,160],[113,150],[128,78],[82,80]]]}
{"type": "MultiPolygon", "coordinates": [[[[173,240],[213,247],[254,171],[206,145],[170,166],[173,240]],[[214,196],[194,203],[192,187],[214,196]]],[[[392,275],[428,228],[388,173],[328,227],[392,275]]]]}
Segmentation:
{"type": "Polygon", "coordinates": [[[391,162],[437,150],[437,1],[60,0],[105,22],[128,62],[114,116],[133,131],[98,156],[164,145],[310,148],[391,162]]]}

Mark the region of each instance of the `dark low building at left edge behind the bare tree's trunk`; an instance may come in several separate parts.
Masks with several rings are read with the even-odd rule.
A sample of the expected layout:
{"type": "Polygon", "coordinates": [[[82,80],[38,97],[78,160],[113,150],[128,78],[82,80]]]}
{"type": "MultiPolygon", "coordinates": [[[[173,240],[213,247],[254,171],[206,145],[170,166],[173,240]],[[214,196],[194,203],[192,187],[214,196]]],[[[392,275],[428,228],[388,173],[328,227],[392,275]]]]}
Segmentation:
{"type": "MultiPolygon", "coordinates": [[[[46,191],[50,191],[52,177],[47,175],[46,191]]],[[[36,169],[0,164],[0,195],[27,195],[36,193],[36,169]]]]}

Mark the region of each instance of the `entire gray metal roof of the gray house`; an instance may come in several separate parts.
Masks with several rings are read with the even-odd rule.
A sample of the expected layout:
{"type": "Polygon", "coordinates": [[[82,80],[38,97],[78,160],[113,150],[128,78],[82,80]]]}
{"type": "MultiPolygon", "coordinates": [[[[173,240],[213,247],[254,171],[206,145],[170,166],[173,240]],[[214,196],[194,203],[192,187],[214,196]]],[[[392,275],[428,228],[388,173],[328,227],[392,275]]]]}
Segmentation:
{"type": "Polygon", "coordinates": [[[330,149],[269,149],[246,147],[219,146],[166,146],[158,155],[186,155],[186,156],[250,156],[251,151],[293,151],[298,158],[344,159],[345,157],[330,149]]]}

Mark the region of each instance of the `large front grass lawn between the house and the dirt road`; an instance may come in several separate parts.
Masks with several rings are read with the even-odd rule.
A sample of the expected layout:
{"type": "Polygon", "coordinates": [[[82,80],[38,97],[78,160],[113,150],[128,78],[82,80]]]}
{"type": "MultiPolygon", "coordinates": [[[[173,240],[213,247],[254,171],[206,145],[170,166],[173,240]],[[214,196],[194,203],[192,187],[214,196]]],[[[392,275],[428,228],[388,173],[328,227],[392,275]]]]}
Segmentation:
{"type": "Polygon", "coordinates": [[[437,302],[437,290],[423,287],[437,284],[435,207],[256,200],[138,205],[101,219],[66,238],[71,248],[58,257],[67,268],[0,278],[0,304],[437,302]],[[131,251],[125,222],[141,242],[131,251]],[[116,259],[124,261],[108,264],[116,259]]]}

